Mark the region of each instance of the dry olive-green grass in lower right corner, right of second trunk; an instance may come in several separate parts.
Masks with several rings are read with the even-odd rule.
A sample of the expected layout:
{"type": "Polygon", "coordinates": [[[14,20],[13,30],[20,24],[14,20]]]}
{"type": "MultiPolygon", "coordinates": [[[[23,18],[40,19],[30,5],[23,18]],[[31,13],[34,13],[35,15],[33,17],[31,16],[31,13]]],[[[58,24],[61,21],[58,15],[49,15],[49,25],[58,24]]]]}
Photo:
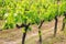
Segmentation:
{"type": "Polygon", "coordinates": [[[56,37],[48,37],[43,41],[43,44],[63,44],[66,43],[66,29],[59,34],[56,35],[56,37]],[[50,40],[48,40],[50,38],[50,40]]]}

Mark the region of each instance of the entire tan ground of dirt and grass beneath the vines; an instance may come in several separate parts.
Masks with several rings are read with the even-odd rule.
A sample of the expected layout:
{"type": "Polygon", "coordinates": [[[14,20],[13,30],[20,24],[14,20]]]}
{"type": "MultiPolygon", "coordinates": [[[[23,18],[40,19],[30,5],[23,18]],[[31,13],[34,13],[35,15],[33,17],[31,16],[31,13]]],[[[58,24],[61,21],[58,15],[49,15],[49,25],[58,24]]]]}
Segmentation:
{"type": "MultiPolygon", "coordinates": [[[[0,26],[2,25],[0,21],[0,26]]],[[[43,44],[66,44],[66,32],[61,32],[63,18],[58,18],[58,30],[56,37],[54,33],[54,20],[45,22],[42,26],[43,44]]],[[[32,31],[28,32],[25,44],[38,44],[37,25],[31,25],[32,31]]],[[[21,29],[11,29],[0,31],[0,44],[21,44],[22,31],[21,29]]]]}

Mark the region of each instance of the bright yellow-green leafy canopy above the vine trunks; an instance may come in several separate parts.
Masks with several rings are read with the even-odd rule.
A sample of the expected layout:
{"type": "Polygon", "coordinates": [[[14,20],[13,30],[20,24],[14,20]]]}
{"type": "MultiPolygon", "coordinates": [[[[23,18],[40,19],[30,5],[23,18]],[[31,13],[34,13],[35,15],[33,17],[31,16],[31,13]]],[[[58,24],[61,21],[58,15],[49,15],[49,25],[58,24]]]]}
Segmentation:
{"type": "Polygon", "coordinates": [[[6,19],[4,28],[15,24],[40,24],[42,20],[52,21],[66,11],[66,1],[61,0],[0,0],[0,16],[6,19]]]}

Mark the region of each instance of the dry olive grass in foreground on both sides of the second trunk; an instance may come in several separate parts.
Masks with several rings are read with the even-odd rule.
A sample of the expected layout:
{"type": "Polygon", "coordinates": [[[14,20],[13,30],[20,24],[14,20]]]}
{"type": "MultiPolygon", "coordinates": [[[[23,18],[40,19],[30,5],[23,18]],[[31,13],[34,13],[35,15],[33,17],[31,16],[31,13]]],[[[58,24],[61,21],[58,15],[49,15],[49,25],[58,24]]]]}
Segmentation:
{"type": "MultiPolygon", "coordinates": [[[[37,44],[38,36],[33,36],[29,40],[26,40],[25,44],[37,44]]],[[[59,32],[56,37],[53,37],[53,35],[47,36],[43,40],[43,44],[63,44],[66,43],[66,29],[62,32],[59,32]]],[[[21,44],[21,43],[20,43],[21,44]]]]}

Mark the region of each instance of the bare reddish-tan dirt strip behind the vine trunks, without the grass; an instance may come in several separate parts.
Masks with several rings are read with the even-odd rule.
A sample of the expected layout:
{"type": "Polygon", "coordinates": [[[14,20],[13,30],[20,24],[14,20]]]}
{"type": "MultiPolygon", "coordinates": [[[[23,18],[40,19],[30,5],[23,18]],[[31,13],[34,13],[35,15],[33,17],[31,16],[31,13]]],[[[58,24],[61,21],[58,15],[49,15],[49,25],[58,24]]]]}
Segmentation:
{"type": "MultiPolygon", "coordinates": [[[[53,35],[54,34],[54,20],[52,22],[45,22],[42,26],[42,37],[43,40],[53,35]]],[[[61,16],[58,19],[58,31],[57,33],[61,31],[62,29],[62,22],[63,22],[63,18],[61,16]]],[[[32,44],[32,41],[35,41],[35,44],[37,43],[38,40],[38,34],[37,34],[37,25],[31,25],[32,26],[32,31],[28,32],[26,35],[26,40],[25,40],[25,44],[32,44]]],[[[7,30],[7,31],[0,31],[0,44],[19,44],[21,43],[21,38],[22,37],[22,31],[21,29],[14,29],[14,30],[7,30]]]]}

